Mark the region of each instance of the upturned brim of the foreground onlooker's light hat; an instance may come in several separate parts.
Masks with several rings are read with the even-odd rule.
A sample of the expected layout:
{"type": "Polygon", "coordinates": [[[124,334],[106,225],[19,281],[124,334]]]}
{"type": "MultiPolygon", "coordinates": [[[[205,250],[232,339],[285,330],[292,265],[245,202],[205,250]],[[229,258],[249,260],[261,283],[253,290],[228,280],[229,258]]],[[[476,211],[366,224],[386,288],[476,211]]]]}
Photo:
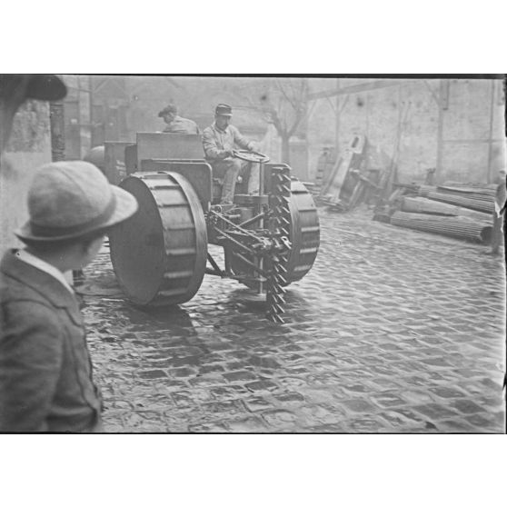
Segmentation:
{"type": "Polygon", "coordinates": [[[118,186],[112,186],[112,189],[114,192],[114,197],[116,199],[116,205],[114,207],[113,214],[102,224],[94,224],[94,226],[91,227],[81,226],[79,230],[76,228],[75,233],[47,237],[37,236],[36,234],[33,234],[32,226],[30,224],[30,221],[28,221],[25,225],[23,225],[23,227],[20,227],[17,231],[15,231],[15,235],[21,240],[41,243],[54,243],[65,240],[78,239],[90,233],[111,229],[114,227],[114,225],[121,224],[133,216],[139,208],[139,205],[137,204],[137,201],[133,194],[128,193],[126,190],[119,188],[118,186]]]}

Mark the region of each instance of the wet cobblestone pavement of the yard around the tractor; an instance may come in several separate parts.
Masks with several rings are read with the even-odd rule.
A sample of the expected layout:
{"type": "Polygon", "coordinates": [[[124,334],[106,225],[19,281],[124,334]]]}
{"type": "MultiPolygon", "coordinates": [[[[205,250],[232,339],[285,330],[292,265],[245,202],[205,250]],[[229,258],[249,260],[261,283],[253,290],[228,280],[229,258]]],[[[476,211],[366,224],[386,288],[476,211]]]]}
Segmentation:
{"type": "Polygon", "coordinates": [[[321,212],[286,323],[232,280],[144,311],[106,249],[84,314],[106,432],[503,432],[504,280],[489,249],[321,212]]]}

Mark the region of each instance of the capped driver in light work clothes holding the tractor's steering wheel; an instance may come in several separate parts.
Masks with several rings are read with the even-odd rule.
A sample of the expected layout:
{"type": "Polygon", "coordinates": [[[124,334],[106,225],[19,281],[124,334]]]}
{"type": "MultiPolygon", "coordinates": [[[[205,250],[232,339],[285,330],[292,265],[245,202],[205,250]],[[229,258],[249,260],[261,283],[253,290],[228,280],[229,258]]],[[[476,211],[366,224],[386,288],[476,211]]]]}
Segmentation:
{"type": "Polygon", "coordinates": [[[206,159],[213,166],[214,175],[224,177],[221,204],[232,204],[234,188],[238,175],[244,176],[249,165],[250,178],[248,194],[259,193],[259,165],[250,164],[234,158],[234,144],[244,150],[254,151],[254,143],[248,141],[239,130],[231,125],[233,108],[227,104],[218,104],[214,110],[214,124],[204,129],[203,146],[206,159]]]}

